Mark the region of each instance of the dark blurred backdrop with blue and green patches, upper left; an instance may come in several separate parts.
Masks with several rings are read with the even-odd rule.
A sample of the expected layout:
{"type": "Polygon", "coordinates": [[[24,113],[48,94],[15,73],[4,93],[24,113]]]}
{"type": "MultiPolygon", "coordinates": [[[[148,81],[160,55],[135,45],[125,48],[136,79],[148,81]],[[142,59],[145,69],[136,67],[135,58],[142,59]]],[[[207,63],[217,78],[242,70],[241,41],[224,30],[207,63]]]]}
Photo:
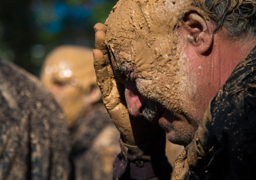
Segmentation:
{"type": "Polygon", "coordinates": [[[49,51],[61,44],[94,48],[96,23],[117,0],[1,0],[0,57],[38,76],[49,51]]]}

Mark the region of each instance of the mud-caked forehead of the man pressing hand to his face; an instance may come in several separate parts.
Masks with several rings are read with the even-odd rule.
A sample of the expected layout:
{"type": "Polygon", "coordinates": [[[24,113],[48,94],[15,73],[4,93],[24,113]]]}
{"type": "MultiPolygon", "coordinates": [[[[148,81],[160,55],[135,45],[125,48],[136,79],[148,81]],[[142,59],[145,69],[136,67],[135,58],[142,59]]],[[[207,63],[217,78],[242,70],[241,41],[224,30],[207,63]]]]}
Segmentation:
{"type": "Polygon", "coordinates": [[[117,62],[135,60],[149,49],[152,54],[175,54],[177,42],[173,30],[180,12],[191,2],[120,0],[108,17],[106,34],[106,44],[117,62]],[[157,52],[160,48],[161,52],[157,52]]]}

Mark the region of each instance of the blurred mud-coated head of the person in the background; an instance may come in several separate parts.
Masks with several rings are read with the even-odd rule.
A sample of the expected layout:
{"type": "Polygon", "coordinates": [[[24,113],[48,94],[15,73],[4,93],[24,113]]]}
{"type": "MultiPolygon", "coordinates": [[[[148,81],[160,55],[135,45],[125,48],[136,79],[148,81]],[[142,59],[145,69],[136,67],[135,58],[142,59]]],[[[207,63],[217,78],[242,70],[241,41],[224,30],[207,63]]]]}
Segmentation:
{"type": "Polygon", "coordinates": [[[69,127],[87,114],[100,92],[93,67],[91,48],[62,45],[52,50],[45,59],[41,80],[50,90],[66,114],[69,127]],[[96,91],[97,90],[97,91],[96,91]]]}

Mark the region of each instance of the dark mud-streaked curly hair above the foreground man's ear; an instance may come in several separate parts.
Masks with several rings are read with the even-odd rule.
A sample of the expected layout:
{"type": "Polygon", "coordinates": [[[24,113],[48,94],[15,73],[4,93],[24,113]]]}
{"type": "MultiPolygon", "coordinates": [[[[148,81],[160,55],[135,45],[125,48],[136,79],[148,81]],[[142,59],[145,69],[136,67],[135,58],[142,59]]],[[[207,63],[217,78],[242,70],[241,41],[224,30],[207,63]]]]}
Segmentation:
{"type": "Polygon", "coordinates": [[[256,37],[255,0],[194,0],[193,5],[215,22],[215,32],[224,27],[233,40],[256,37]]]}

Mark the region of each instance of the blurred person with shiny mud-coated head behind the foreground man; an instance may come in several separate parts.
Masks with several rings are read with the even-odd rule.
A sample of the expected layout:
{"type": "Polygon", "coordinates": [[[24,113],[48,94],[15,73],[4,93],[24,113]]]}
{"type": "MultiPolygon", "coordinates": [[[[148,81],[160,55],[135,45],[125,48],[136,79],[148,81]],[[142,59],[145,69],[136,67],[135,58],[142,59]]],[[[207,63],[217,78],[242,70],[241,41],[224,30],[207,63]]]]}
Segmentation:
{"type": "Polygon", "coordinates": [[[120,135],[101,100],[92,49],[71,45],[55,48],[46,57],[40,77],[66,115],[72,179],[112,179],[120,135]]]}

